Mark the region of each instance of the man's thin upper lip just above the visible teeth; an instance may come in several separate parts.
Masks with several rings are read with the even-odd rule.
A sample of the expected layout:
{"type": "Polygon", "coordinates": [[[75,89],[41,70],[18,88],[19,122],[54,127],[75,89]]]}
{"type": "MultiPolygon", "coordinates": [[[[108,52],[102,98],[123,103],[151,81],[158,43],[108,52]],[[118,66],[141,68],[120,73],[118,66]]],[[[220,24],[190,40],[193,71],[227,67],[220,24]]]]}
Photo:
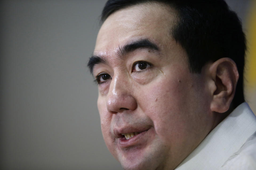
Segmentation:
{"type": "Polygon", "coordinates": [[[114,135],[117,138],[122,138],[124,133],[132,133],[132,132],[144,132],[149,130],[150,127],[135,127],[135,126],[125,126],[122,128],[114,128],[114,135]]]}

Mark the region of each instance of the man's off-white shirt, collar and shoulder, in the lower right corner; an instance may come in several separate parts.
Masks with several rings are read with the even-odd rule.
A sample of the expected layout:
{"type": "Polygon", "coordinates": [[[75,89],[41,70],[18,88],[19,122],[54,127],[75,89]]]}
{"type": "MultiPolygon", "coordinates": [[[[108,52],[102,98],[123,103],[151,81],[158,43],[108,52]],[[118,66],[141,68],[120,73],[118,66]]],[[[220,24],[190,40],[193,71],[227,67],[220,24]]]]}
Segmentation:
{"type": "Polygon", "coordinates": [[[256,169],[255,131],[256,116],[247,103],[242,103],[205,137],[176,170],[256,169]]]}

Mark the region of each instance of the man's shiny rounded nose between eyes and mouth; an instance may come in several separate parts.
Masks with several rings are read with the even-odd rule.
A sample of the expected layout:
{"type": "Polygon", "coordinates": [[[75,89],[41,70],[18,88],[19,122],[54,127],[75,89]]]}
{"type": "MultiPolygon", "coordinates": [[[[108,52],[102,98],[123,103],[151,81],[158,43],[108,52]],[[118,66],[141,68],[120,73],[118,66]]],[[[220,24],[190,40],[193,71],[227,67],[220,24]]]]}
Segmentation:
{"type": "Polygon", "coordinates": [[[125,78],[120,76],[113,77],[107,94],[107,110],[112,113],[135,110],[137,101],[131,94],[131,88],[131,83],[125,78]]]}

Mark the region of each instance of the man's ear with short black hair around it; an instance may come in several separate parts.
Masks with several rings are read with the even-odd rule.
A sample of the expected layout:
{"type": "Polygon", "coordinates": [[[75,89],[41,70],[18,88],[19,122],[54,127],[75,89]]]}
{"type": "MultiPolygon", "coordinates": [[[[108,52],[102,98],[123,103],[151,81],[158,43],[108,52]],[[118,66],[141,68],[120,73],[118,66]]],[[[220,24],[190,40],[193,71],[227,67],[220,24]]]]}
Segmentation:
{"type": "Polygon", "coordinates": [[[212,112],[226,112],[235,95],[235,88],[239,78],[237,65],[230,58],[221,58],[209,67],[210,75],[214,80],[215,88],[211,89],[212,112]]]}

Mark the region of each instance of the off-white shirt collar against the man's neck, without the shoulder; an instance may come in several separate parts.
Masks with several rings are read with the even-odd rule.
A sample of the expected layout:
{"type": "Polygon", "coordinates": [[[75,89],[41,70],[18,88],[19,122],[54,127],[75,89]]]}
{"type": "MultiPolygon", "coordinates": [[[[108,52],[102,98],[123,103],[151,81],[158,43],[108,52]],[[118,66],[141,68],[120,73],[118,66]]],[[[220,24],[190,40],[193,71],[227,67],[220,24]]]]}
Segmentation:
{"type": "Polygon", "coordinates": [[[247,103],[220,122],[176,170],[219,169],[256,131],[256,117],[247,103]]]}

